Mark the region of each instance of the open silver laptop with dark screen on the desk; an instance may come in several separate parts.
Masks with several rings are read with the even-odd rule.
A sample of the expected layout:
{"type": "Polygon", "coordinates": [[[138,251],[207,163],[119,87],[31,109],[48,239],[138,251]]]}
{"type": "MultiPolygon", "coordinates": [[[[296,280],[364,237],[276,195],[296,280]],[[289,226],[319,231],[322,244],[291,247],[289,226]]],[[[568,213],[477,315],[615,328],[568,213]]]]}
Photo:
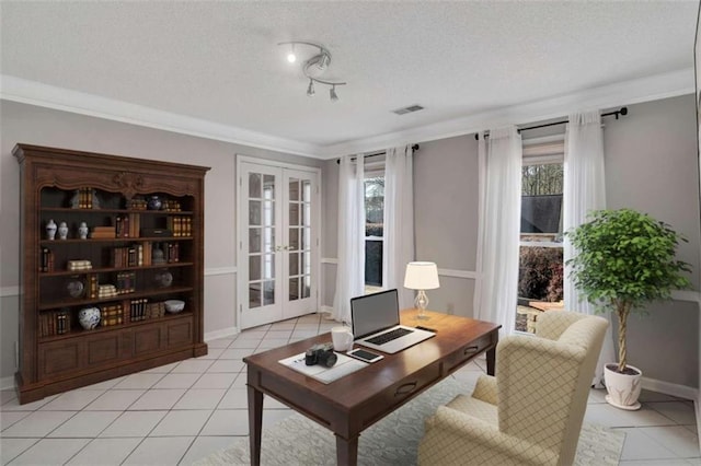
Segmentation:
{"type": "Polygon", "coordinates": [[[436,334],[399,324],[397,289],[350,300],[355,342],[387,353],[395,353],[436,334]]]}

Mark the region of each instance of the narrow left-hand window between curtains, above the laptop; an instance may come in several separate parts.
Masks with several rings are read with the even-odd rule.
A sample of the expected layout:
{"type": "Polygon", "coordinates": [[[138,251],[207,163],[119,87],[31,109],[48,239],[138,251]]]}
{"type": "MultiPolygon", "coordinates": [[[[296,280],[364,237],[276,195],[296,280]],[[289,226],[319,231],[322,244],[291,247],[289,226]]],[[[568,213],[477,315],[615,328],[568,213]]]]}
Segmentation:
{"type": "Polygon", "coordinates": [[[384,230],[384,174],[365,178],[365,291],[382,287],[382,236],[384,230]]]}

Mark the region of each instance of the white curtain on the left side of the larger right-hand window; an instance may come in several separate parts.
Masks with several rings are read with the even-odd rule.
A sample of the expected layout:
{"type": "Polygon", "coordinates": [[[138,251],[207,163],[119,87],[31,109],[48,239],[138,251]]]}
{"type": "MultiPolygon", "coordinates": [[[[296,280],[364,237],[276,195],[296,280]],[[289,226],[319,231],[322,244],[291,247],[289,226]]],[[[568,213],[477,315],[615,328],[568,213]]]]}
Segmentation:
{"type": "Polygon", "coordinates": [[[514,331],[521,217],[521,137],[516,127],[479,142],[480,198],[474,316],[514,331]]]}

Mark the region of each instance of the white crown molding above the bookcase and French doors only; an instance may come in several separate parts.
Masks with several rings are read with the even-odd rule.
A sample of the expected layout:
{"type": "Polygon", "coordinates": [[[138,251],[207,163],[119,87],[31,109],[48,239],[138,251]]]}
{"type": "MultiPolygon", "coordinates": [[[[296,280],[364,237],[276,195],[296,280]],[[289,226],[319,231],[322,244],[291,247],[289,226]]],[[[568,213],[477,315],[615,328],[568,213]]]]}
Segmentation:
{"type": "Polygon", "coordinates": [[[0,98],[216,141],[319,159],[317,144],[0,74],[0,98]]]}

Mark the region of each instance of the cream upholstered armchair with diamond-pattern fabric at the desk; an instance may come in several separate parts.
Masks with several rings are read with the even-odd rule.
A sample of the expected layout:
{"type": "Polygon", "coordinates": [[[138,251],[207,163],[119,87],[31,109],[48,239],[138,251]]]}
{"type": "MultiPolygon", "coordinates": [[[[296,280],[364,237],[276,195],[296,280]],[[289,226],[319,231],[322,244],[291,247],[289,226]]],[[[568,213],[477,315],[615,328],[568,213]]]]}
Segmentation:
{"type": "Polygon", "coordinates": [[[420,465],[571,465],[608,322],[567,311],[496,347],[496,375],[426,421],[420,465]]]}

